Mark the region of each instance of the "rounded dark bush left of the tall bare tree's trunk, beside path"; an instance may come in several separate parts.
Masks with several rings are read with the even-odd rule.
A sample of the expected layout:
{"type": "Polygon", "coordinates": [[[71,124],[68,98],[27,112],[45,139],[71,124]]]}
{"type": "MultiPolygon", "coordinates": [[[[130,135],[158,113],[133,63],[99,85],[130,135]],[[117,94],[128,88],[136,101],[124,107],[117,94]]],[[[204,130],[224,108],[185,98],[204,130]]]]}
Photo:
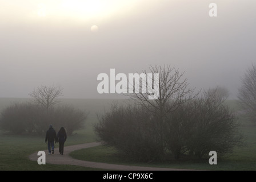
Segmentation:
{"type": "Polygon", "coordinates": [[[154,117],[139,106],[111,106],[95,132],[109,146],[114,146],[130,159],[147,161],[159,157],[154,117]]]}

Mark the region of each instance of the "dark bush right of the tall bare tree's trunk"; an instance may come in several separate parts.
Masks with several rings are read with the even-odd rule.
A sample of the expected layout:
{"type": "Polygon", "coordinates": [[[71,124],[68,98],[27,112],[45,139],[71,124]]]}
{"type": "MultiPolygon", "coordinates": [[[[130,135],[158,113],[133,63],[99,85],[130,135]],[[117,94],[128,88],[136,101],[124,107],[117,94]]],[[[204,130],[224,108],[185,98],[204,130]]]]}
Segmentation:
{"type": "Polygon", "coordinates": [[[202,158],[210,151],[227,154],[242,143],[234,115],[223,101],[211,90],[167,115],[167,148],[175,159],[182,154],[202,158]]]}

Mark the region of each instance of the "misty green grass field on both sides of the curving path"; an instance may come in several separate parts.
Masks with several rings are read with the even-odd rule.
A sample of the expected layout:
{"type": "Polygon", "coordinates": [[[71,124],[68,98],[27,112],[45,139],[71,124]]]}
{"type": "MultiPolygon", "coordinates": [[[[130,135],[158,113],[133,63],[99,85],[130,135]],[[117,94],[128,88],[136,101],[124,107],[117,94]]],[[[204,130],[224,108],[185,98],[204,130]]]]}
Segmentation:
{"type": "MultiPolygon", "coordinates": [[[[1,98],[0,110],[6,106],[26,101],[26,98],[1,98]]],[[[67,138],[65,146],[73,144],[95,142],[97,136],[94,133],[93,125],[98,122],[97,114],[107,110],[111,103],[123,103],[125,100],[93,100],[93,99],[64,99],[63,103],[73,105],[78,109],[89,112],[85,122],[85,127],[77,130],[72,136],[67,138]]],[[[237,101],[226,101],[230,109],[234,112],[239,111],[237,101]]],[[[207,170],[255,170],[256,169],[256,125],[247,121],[244,115],[240,114],[237,122],[240,129],[246,137],[246,146],[236,148],[233,154],[218,158],[218,164],[211,166],[207,159],[174,161],[169,162],[148,162],[138,163],[125,159],[117,155],[113,148],[104,146],[87,148],[71,152],[71,156],[76,159],[90,160],[95,162],[129,164],[134,166],[151,166],[151,167],[169,167],[169,168],[187,168],[187,169],[207,169],[207,170]]],[[[48,126],[46,126],[47,128],[48,126]]],[[[58,129],[55,129],[58,130],[58,129]]],[[[93,168],[54,165],[47,164],[39,166],[37,162],[29,160],[28,156],[39,150],[46,150],[47,145],[44,142],[43,136],[30,135],[13,135],[6,131],[0,131],[0,170],[94,170],[93,168]]],[[[58,144],[57,144],[58,147],[58,144]]],[[[97,170],[97,169],[96,169],[97,170]]]]}

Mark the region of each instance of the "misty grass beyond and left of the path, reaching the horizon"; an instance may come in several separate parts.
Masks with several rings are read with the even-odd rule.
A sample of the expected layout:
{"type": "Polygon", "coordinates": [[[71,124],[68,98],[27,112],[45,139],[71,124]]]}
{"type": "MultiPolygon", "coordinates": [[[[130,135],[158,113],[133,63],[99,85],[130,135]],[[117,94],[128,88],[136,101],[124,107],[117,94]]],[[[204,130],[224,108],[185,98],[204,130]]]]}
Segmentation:
{"type": "MultiPolygon", "coordinates": [[[[0,110],[6,106],[17,103],[26,102],[27,98],[0,98],[0,110]]],[[[75,131],[74,135],[69,137],[65,146],[95,142],[95,137],[92,123],[97,121],[97,112],[102,112],[109,105],[110,100],[77,100],[65,99],[65,104],[74,105],[84,111],[89,111],[88,118],[85,123],[85,129],[75,131]]],[[[48,126],[46,126],[48,127],[48,126]]],[[[93,168],[78,167],[78,166],[62,166],[47,164],[39,166],[37,162],[29,160],[29,155],[46,150],[45,136],[20,136],[12,135],[0,130],[0,171],[2,170],[94,170],[93,168]]]]}

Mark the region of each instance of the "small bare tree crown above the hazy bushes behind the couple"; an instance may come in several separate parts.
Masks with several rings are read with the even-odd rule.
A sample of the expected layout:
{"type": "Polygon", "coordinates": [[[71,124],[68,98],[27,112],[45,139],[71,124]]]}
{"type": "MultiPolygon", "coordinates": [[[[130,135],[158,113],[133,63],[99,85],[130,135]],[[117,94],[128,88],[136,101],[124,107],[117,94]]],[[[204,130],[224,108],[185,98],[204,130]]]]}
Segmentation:
{"type": "Polygon", "coordinates": [[[42,105],[47,110],[49,107],[59,104],[58,97],[62,96],[62,88],[53,86],[39,86],[29,94],[34,98],[34,102],[42,105]]]}

